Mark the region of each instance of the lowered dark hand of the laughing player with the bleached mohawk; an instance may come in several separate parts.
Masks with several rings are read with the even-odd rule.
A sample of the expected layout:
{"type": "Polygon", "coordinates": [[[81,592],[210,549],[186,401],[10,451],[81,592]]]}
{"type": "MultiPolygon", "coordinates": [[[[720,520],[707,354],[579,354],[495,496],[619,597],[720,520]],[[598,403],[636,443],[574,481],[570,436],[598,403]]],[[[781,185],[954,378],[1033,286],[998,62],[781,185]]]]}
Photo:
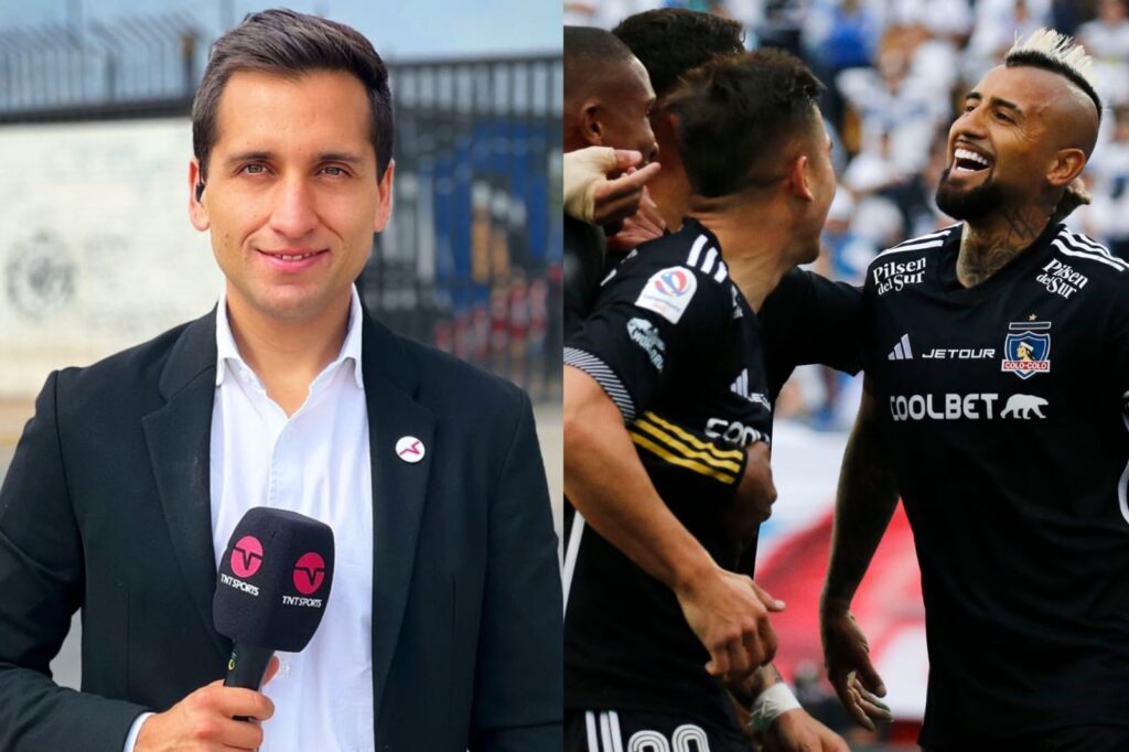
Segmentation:
{"type": "Polygon", "coordinates": [[[886,685],[870,663],[870,646],[850,611],[821,609],[820,633],[828,679],[847,711],[869,731],[875,720],[893,720],[890,708],[878,699],[886,696],[886,685]]]}

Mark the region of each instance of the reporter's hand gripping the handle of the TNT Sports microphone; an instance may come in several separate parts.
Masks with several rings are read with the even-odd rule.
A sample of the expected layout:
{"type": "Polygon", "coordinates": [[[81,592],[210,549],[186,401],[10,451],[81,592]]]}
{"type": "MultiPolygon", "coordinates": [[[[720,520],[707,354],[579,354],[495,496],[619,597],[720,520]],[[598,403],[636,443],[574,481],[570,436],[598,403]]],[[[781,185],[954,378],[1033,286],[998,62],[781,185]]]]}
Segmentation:
{"type": "MultiPolygon", "coordinates": [[[[271,657],[263,685],[278,672],[279,659],[271,657]]],[[[263,743],[257,723],[235,720],[247,716],[266,720],[274,715],[274,703],[262,692],[240,687],[224,687],[216,680],[174,705],[165,712],[146,718],[138,734],[134,752],[212,752],[255,750],[263,743]]]]}

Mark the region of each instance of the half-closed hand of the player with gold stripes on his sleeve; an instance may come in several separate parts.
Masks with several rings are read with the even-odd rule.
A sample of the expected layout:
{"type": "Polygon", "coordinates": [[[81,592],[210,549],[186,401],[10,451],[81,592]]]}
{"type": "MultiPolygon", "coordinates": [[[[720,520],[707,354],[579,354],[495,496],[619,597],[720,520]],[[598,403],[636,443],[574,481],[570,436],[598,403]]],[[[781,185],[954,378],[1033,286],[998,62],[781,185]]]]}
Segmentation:
{"type": "Polygon", "coordinates": [[[736,681],[776,655],[769,612],[784,611],[784,601],[751,578],[715,566],[675,595],[690,628],[709,650],[706,671],[711,675],[736,681]]]}

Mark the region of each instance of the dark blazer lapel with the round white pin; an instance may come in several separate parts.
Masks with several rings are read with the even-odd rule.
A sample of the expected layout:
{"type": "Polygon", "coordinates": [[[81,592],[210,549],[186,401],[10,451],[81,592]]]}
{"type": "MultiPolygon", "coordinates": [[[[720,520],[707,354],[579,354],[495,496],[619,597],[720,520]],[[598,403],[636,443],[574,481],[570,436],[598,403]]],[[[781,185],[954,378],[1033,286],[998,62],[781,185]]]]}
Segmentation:
{"type": "Polygon", "coordinates": [[[364,326],[361,359],[373,463],[373,699],[379,709],[408,604],[436,420],[414,400],[419,375],[403,343],[367,313],[364,326]],[[421,461],[405,462],[396,454],[396,444],[405,436],[422,444],[421,461]]]}

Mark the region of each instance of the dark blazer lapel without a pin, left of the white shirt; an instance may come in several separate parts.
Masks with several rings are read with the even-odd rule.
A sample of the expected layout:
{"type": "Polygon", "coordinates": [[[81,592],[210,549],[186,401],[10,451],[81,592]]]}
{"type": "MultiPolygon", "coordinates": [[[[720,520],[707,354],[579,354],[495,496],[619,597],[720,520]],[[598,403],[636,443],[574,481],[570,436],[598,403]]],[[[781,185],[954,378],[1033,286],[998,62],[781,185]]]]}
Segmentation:
{"type": "Polygon", "coordinates": [[[212,622],[211,418],[216,397],[216,312],[187,325],[160,376],[165,406],[142,419],[173,550],[204,630],[221,658],[231,650],[212,622]]]}

